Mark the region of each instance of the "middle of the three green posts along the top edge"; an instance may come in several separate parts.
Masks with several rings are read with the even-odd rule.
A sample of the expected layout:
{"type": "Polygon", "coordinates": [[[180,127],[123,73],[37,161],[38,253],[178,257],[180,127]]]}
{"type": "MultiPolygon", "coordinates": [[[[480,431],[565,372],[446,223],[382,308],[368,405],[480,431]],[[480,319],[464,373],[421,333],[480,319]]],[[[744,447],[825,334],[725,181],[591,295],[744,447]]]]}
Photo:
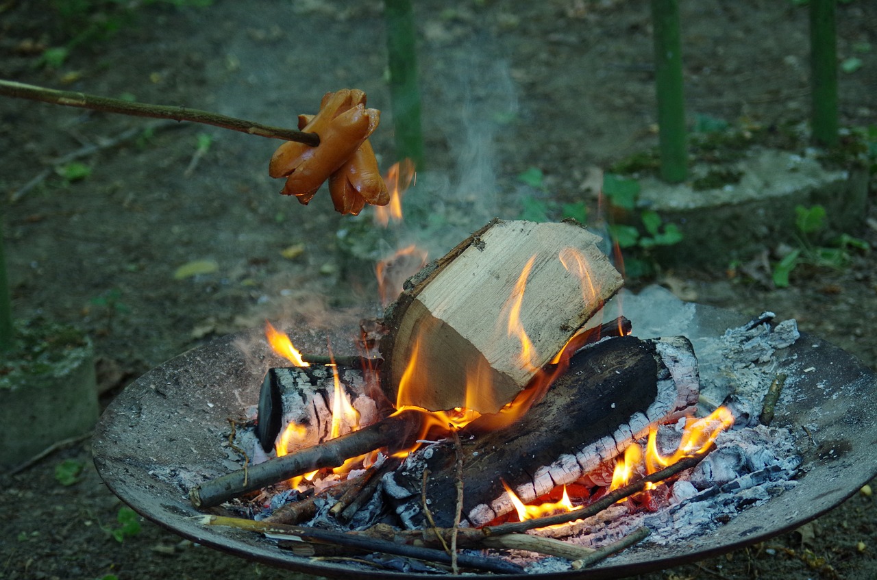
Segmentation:
{"type": "Polygon", "coordinates": [[[688,177],[679,0],[652,0],[652,26],[660,176],[669,183],[678,183],[688,177]]]}

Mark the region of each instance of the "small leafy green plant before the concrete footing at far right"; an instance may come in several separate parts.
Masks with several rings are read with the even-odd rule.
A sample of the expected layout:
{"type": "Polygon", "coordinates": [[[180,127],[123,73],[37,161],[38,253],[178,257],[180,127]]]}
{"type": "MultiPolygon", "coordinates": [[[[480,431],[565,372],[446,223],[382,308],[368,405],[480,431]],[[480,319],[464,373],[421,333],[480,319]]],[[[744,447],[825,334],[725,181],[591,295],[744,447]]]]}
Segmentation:
{"type": "Polygon", "coordinates": [[[821,205],[795,207],[795,230],[798,246],[788,251],[774,264],[774,286],[789,286],[789,277],[799,265],[843,268],[850,263],[854,252],[870,251],[869,244],[859,237],[841,234],[830,239],[821,238],[827,230],[826,212],[821,205]]]}

